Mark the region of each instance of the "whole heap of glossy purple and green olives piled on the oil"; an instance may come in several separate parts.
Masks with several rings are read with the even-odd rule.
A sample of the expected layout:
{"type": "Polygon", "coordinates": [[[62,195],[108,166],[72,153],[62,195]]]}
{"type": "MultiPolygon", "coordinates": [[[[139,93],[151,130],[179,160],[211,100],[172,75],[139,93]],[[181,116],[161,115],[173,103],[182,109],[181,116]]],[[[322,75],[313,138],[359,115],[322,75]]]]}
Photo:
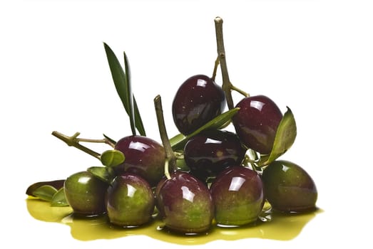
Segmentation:
{"type": "Polygon", "coordinates": [[[265,201],[285,213],[315,210],[317,189],[311,176],[278,159],[293,142],[288,137],[295,138],[291,113],[283,115],[265,95],[245,94],[237,105],[228,103],[228,117],[224,110],[230,90],[233,85],[227,88],[223,81],[220,87],[215,76],[185,80],[172,105],[184,142],[170,147],[165,134],[163,144],[137,134],[119,139],[113,149],[123,160],[106,165],[100,174],[80,171],[63,181],[73,212],[107,215],[126,228],[159,218],[171,231],[195,234],[215,224],[255,223],[265,201]],[[214,125],[221,120],[225,122],[214,125]],[[229,124],[235,132],[226,129],[229,124]]]}

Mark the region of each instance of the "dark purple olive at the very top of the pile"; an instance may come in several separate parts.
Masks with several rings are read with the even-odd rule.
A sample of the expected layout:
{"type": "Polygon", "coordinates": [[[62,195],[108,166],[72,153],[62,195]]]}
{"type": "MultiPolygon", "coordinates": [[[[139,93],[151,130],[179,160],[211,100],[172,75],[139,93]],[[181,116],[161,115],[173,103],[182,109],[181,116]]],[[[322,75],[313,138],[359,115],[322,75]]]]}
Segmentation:
{"type": "Polygon", "coordinates": [[[180,133],[188,135],[220,115],[224,107],[222,88],[206,75],[194,75],[173,98],[173,121],[180,133]]]}

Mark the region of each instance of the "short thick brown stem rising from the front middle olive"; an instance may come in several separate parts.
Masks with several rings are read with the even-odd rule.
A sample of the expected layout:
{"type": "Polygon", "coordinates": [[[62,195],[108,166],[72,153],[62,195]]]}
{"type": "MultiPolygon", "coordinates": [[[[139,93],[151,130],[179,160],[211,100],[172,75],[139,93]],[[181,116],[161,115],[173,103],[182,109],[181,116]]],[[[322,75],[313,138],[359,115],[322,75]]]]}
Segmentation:
{"type": "Polygon", "coordinates": [[[154,98],[154,106],[155,106],[155,113],[157,115],[158,121],[158,129],[160,134],[160,139],[162,139],[163,148],[165,149],[165,176],[167,179],[170,179],[170,171],[172,169],[175,171],[176,168],[176,157],[173,153],[173,149],[170,144],[170,140],[168,139],[167,130],[165,129],[165,120],[163,117],[163,108],[162,108],[162,100],[160,95],[157,95],[154,98]]]}

